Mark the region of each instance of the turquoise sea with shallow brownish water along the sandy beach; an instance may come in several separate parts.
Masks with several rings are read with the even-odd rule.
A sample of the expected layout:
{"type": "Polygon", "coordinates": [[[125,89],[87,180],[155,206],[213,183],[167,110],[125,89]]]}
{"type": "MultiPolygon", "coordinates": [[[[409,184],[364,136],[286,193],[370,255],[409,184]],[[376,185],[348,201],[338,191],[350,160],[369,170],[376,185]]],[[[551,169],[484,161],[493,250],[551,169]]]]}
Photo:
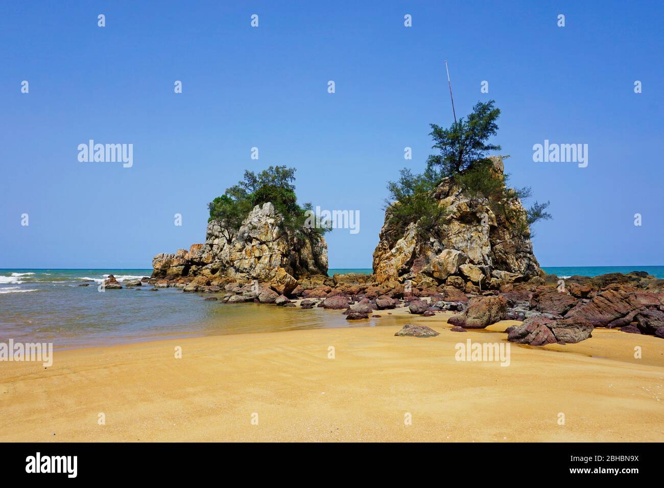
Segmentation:
{"type": "MultiPolygon", "coordinates": [[[[544,267],[560,277],[645,271],[664,278],[664,266],[544,267]]],[[[7,270],[0,269],[0,342],[51,342],[56,348],[108,343],[219,335],[257,331],[348,327],[338,311],[266,307],[255,303],[226,305],[205,301],[205,293],[177,288],[98,291],[113,274],[118,280],[140,279],[152,270],[7,270]],[[80,286],[88,284],[88,286],[80,286]]],[[[371,273],[371,269],[331,269],[335,273],[371,273]]],[[[371,319],[368,325],[377,325],[371,319]]],[[[382,324],[391,318],[384,317],[382,324]]]]}

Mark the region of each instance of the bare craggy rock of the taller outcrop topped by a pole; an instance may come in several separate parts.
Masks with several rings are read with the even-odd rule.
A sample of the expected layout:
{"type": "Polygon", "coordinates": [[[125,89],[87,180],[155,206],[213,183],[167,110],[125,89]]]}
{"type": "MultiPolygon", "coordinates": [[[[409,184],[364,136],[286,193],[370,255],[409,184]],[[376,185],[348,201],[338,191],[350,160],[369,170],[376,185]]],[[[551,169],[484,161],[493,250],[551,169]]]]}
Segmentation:
{"type": "MultiPolygon", "coordinates": [[[[503,160],[493,157],[494,169],[503,176],[503,160]]],[[[438,229],[438,238],[422,238],[416,225],[400,233],[386,211],[380,242],[373,254],[374,279],[378,283],[414,284],[433,278],[442,284],[449,276],[485,287],[529,280],[540,275],[529,230],[517,230],[514,221],[493,212],[484,198],[471,198],[444,180],[435,191],[439,203],[447,206],[448,218],[438,229]],[[507,274],[495,273],[507,272],[507,274]]],[[[513,214],[525,218],[519,199],[504,202],[513,214]]]]}

